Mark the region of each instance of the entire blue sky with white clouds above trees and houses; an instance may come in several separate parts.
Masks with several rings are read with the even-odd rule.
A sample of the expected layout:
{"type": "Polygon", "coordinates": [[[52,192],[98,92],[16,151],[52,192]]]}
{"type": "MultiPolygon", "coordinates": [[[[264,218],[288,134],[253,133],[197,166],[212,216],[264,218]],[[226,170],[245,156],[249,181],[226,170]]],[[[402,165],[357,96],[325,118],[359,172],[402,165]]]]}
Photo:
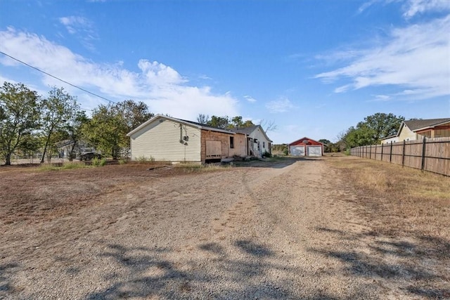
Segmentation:
{"type": "MultiPolygon", "coordinates": [[[[274,122],[274,143],[450,117],[450,0],[0,0],[0,51],[154,113],[274,122]]],[[[108,103],[3,54],[0,81],[108,103]]]]}

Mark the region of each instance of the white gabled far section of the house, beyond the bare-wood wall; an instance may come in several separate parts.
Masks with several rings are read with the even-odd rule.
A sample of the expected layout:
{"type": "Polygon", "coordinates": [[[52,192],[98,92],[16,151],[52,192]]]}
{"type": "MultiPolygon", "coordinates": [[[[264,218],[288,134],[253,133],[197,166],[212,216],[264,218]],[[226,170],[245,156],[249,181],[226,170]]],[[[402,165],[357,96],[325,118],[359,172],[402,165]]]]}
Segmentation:
{"type": "Polygon", "coordinates": [[[248,155],[262,157],[265,152],[271,153],[271,139],[266,135],[261,125],[238,127],[232,129],[236,133],[243,133],[247,136],[248,155]]]}

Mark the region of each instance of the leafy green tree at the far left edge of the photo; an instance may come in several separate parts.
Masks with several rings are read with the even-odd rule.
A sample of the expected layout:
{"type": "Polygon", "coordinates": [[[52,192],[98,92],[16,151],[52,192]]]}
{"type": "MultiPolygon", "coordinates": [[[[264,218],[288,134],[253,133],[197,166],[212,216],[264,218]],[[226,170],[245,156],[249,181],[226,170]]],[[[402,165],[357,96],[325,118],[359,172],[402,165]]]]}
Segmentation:
{"type": "Polygon", "coordinates": [[[5,164],[39,124],[39,96],[24,84],[4,82],[0,88],[0,152],[5,164]]]}

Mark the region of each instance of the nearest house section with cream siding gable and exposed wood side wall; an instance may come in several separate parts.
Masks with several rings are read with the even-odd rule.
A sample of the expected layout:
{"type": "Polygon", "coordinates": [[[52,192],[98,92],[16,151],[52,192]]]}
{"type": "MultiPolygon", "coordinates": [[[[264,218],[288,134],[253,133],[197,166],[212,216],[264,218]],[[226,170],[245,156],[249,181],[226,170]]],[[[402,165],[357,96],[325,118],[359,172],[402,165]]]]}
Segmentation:
{"type": "Polygon", "coordinates": [[[247,155],[247,136],[174,117],[156,115],[136,127],[131,139],[131,159],[167,162],[213,162],[247,155]]]}

